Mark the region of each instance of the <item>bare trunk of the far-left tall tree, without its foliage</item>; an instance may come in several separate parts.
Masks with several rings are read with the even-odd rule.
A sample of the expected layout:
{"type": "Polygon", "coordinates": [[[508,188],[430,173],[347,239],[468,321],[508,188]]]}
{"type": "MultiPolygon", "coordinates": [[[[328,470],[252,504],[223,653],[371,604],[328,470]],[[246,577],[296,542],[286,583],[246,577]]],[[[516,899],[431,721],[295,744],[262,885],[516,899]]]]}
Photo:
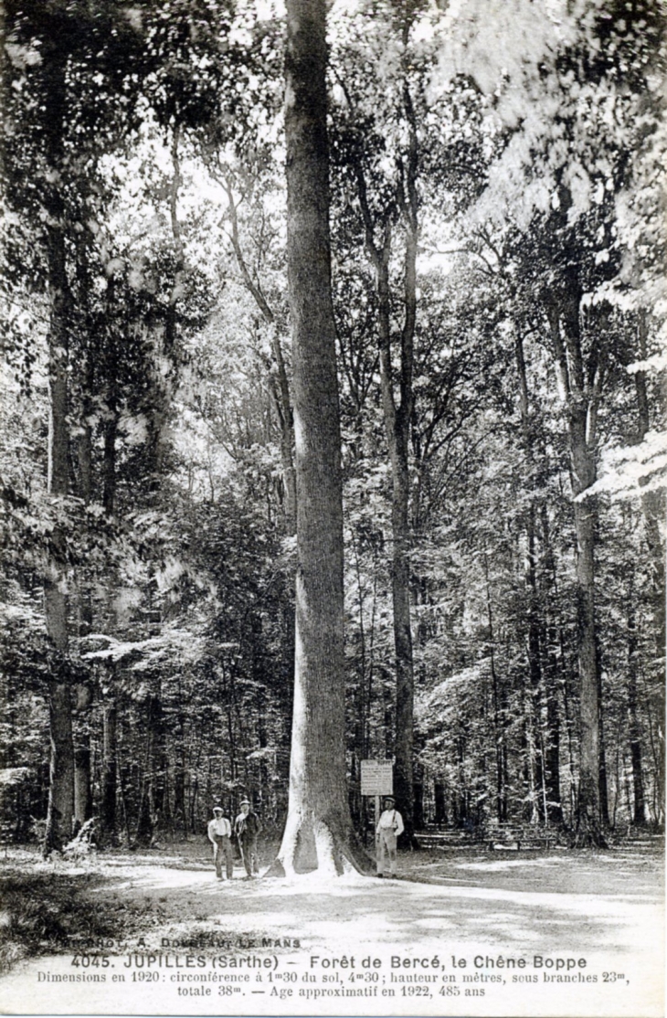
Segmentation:
{"type": "MultiPolygon", "coordinates": [[[[66,56],[56,42],[53,52],[45,53],[44,57],[49,61],[51,71],[47,152],[50,166],[58,170],[62,164],[62,130],[66,115],[66,56]]],[[[56,186],[50,187],[46,204],[51,217],[47,247],[50,306],[48,492],[51,499],[57,501],[65,498],[69,490],[67,371],[68,328],[71,315],[65,254],[65,210],[56,186]]],[[[51,539],[48,572],[44,581],[45,621],[52,648],[48,680],[51,760],[45,855],[53,849],[61,849],[71,838],[74,808],[71,695],[67,675],[68,622],[65,568],[64,535],[56,527],[51,539]]]]}

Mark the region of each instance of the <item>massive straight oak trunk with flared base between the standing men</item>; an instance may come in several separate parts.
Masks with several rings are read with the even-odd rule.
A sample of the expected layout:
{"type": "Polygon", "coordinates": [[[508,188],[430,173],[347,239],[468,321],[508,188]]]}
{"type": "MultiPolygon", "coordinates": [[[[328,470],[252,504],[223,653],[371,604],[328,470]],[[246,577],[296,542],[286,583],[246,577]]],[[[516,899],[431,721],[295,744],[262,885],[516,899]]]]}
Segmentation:
{"type": "Polygon", "coordinates": [[[340,422],[331,299],[325,0],[288,0],[287,264],[296,437],[296,647],[288,874],[369,864],[347,802],[340,422]]]}

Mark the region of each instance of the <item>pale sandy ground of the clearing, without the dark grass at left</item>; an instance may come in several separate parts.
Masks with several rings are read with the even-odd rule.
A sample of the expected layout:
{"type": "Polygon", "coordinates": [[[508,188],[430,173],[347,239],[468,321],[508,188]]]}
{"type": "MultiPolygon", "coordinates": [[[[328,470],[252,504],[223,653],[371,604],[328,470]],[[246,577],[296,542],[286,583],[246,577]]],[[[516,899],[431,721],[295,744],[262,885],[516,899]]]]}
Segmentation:
{"type": "MultiPolygon", "coordinates": [[[[172,976],[160,970],[156,985],[133,986],[129,1003],[122,999],[122,1009],[118,1007],[120,991],[114,996],[109,987],[103,991],[97,985],[87,986],[82,1007],[81,987],[39,981],[39,972],[64,971],[63,965],[71,965],[71,956],[62,956],[23,964],[0,980],[4,1013],[544,1014],[559,1018],[663,1014],[664,864],[657,853],[563,850],[539,856],[516,852],[460,856],[420,852],[399,859],[397,881],[352,874],[325,883],[317,874],[291,881],[246,881],[238,866],[232,882],[220,882],[199,847],[184,854],[105,857],[88,865],[96,870],[102,867],[107,878],[103,886],[91,890],[92,907],[122,908],[131,901],[134,906],[142,902],[146,909],[147,932],[141,941],[110,947],[112,967],[118,964],[131,972],[145,965],[147,953],[158,956],[160,952],[175,959],[175,965],[187,954],[206,956],[207,966],[215,964],[211,958],[216,954],[227,959],[272,958],[276,971],[296,973],[295,986],[302,981],[308,984],[310,976],[323,999],[317,1000],[317,1006],[313,999],[299,998],[288,1005],[271,999],[275,989],[256,988],[252,998],[239,999],[235,1010],[225,1002],[232,1008],[225,1010],[215,998],[175,1001],[172,976]],[[338,1002],[326,996],[325,975],[337,970],[342,982],[336,985],[341,986],[349,979],[343,958],[354,958],[357,968],[365,959],[372,960],[369,964],[377,959],[387,986],[404,970],[412,973],[415,966],[420,973],[430,972],[435,958],[438,979],[445,982],[453,975],[452,981],[460,983],[461,961],[467,972],[480,978],[501,975],[503,981],[487,984],[484,999],[443,998],[443,992],[449,991],[439,985],[440,997],[369,1000],[362,1009],[362,1002],[338,1002]],[[518,973],[537,975],[539,984],[512,985],[516,972],[505,967],[506,961],[499,967],[499,958],[513,959],[515,965],[523,958],[525,968],[518,973]],[[425,967],[426,959],[431,962],[425,967]],[[545,985],[546,975],[558,972],[558,959],[563,966],[572,960],[575,973],[595,975],[595,985],[545,985]],[[350,1006],[352,1010],[344,1010],[350,1006]]],[[[285,975],[285,979],[290,977],[285,975]]],[[[400,986],[398,991],[404,992],[400,986]]],[[[461,984],[459,993],[464,997],[471,991],[461,984]]]]}

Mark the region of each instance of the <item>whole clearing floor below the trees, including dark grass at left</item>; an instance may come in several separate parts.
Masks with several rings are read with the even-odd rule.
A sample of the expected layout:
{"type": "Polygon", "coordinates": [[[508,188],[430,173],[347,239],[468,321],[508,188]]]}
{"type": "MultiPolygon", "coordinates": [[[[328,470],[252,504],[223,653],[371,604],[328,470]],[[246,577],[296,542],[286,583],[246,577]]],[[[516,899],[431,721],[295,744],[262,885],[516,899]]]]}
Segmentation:
{"type": "MultiPolygon", "coordinates": [[[[266,854],[272,852],[275,846],[266,854]]],[[[11,875],[24,874],[26,861],[24,852],[12,852],[4,860],[5,904],[10,900],[7,888],[11,875]]],[[[49,1001],[54,1014],[71,1013],[80,1007],[80,986],[33,986],[38,972],[76,971],[71,962],[77,954],[79,966],[87,956],[92,962],[93,956],[98,962],[106,957],[124,968],[131,968],[132,956],[137,953],[145,959],[153,958],[154,963],[162,956],[165,964],[171,960],[172,965],[178,959],[183,963],[188,954],[210,959],[221,954],[245,957],[249,952],[264,957],[277,952],[288,964],[297,959],[291,962],[294,965],[303,954],[325,959],[354,955],[359,969],[369,953],[374,958],[400,954],[435,956],[451,974],[450,958],[455,951],[476,966],[470,973],[471,986],[479,987],[480,978],[489,976],[502,976],[505,983],[487,985],[484,1001],[445,1001],[440,997],[435,1010],[432,996],[430,1001],[416,1002],[422,1007],[414,1013],[507,1014],[502,1009],[507,1008],[508,1000],[516,1009],[512,1014],[537,1013],[531,1007],[537,1003],[544,1008],[545,978],[562,975],[562,970],[546,967],[559,958],[586,959],[587,976],[596,975],[600,982],[605,972],[610,974],[610,968],[624,976],[622,988],[616,979],[613,985],[603,984],[602,988],[598,982],[592,983],[596,991],[592,1007],[577,982],[574,1000],[578,1010],[572,1013],[661,1013],[664,865],[660,843],[645,843],[641,851],[636,846],[605,853],[554,850],[522,857],[516,852],[480,852],[470,847],[452,854],[405,852],[399,855],[400,879],[385,883],[354,873],[334,884],[323,884],[317,873],[308,879],[244,881],[242,868],[237,866],[234,881],[220,885],[211,871],[208,853],[194,842],[140,857],[118,853],[79,860],[78,864],[59,863],[55,869],[51,863],[35,865],[35,859],[31,861],[33,901],[39,902],[41,921],[31,927],[25,914],[22,923],[15,916],[12,923],[3,925],[0,960],[5,970],[9,962],[14,966],[0,981],[5,1011],[18,1011],[20,1004],[41,1000],[49,1001]],[[47,878],[51,892],[44,886],[39,888],[36,882],[40,878],[47,878]],[[56,881],[62,882],[60,890],[56,881]],[[64,912],[63,893],[80,899],[77,916],[74,910],[69,915],[64,912]],[[49,915],[50,920],[46,918],[49,915]],[[96,918],[91,919],[92,915],[96,918]],[[27,940],[31,935],[32,943],[27,940]],[[516,970],[494,968],[499,955],[526,960],[527,970],[518,972],[520,983],[512,985],[512,975],[518,979],[516,970]],[[542,959],[537,970],[536,956],[542,959]],[[31,957],[34,960],[27,963],[31,957]],[[63,961],[65,966],[59,966],[63,961]],[[499,993],[502,985],[509,985],[507,993],[512,996],[501,993],[490,1003],[489,992],[499,993]],[[522,995],[518,1005],[517,985],[522,995]],[[532,986],[537,986],[537,997],[531,997],[532,986]],[[455,1010],[457,1007],[460,1010],[455,1010]]],[[[150,970],[150,962],[146,964],[150,970]]],[[[92,964],[88,970],[96,971],[92,964]]],[[[387,981],[400,986],[402,970],[394,971],[393,977],[391,971],[387,981]]],[[[302,966],[297,972],[300,984],[302,966]]],[[[565,974],[572,978],[569,970],[565,974]]],[[[162,975],[161,970],[159,986],[152,983],[144,987],[152,992],[144,1013],[167,1013],[169,1002],[173,1007],[173,986],[165,986],[162,975]],[[161,987],[166,997],[160,997],[161,987]]],[[[436,976],[431,974],[428,979],[427,984],[432,984],[436,976]]],[[[559,991],[557,1006],[562,1009],[567,1006],[567,994],[563,998],[562,984],[553,984],[559,991]]],[[[452,985],[455,983],[445,983],[452,985]]],[[[268,993],[270,987],[266,988],[268,993]]],[[[461,998],[465,988],[465,983],[459,988],[461,998]]],[[[258,986],[255,989],[256,997],[261,996],[258,986]]],[[[113,989],[108,986],[87,985],[87,1006],[94,1013],[113,1012],[110,994],[113,989]]],[[[141,997],[132,997],[136,1013],[141,1013],[143,1003],[146,1001],[141,997]]],[[[220,1006],[219,1001],[211,1007],[216,1005],[220,1006]]],[[[265,1013],[264,1005],[264,1000],[254,999],[249,1011],[243,1013],[265,1013]],[[258,1010],[253,1011],[253,1006],[258,1010]]],[[[313,1013],[308,1007],[315,1005],[291,999],[287,1006],[296,1008],[289,1013],[313,1013]]],[[[385,1000],[384,1007],[380,1013],[404,1013],[400,1002],[388,1004],[385,1000]]],[[[215,1013],[201,999],[179,998],[177,1008],[182,1014],[215,1013]]],[[[318,1001],[317,1008],[322,1009],[319,1013],[337,1013],[335,1006],[328,1009],[326,999],[318,1001]]],[[[272,1013],[270,1005],[267,1013],[272,1013]]]]}

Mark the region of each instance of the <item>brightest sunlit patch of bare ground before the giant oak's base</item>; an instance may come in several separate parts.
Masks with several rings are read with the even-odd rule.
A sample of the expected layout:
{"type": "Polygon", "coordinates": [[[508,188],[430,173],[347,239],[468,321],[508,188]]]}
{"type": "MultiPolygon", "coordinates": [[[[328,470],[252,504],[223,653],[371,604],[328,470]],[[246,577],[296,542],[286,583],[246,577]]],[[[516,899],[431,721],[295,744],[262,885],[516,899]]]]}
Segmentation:
{"type": "MultiPolygon", "coordinates": [[[[628,940],[655,940],[661,909],[649,895],[633,895],[627,883],[620,884],[620,894],[607,893],[606,878],[590,876],[588,861],[581,859],[532,859],[523,867],[518,862],[458,862],[456,869],[466,878],[458,885],[442,874],[442,868],[449,868],[451,862],[444,867],[441,864],[440,873],[435,863],[429,863],[432,880],[437,878],[438,883],[378,881],[358,873],[323,881],[317,872],[227,883],[216,881],[211,872],[138,868],[123,874],[114,890],[119,895],[138,892],[157,897],[161,903],[169,902],[172,912],[175,905],[182,906],[179,922],[163,923],[162,932],[167,937],[177,936],[174,929],[191,922],[194,913],[200,925],[205,923],[212,931],[215,923],[223,923],[229,932],[247,936],[258,928],[280,929],[284,936],[307,939],[312,947],[324,949],[328,945],[332,950],[334,942],[344,949],[346,942],[390,945],[418,941],[425,949],[437,950],[443,934],[465,943],[483,939],[490,949],[507,944],[537,949],[544,946],[545,939],[551,950],[561,951],[568,950],[573,939],[579,948],[590,950],[620,947],[628,940]],[[541,879],[536,875],[529,883],[523,871],[546,874],[559,869],[563,870],[559,879],[570,885],[573,875],[583,871],[589,892],[565,895],[561,890],[543,891],[541,879]],[[522,890],[512,886],[514,872],[522,876],[522,890]],[[473,879],[476,886],[467,883],[473,879]],[[505,881],[509,886],[502,886],[505,881]]],[[[416,870],[414,865],[411,872],[416,870]]],[[[617,875],[622,878],[622,873],[617,875]]]]}

